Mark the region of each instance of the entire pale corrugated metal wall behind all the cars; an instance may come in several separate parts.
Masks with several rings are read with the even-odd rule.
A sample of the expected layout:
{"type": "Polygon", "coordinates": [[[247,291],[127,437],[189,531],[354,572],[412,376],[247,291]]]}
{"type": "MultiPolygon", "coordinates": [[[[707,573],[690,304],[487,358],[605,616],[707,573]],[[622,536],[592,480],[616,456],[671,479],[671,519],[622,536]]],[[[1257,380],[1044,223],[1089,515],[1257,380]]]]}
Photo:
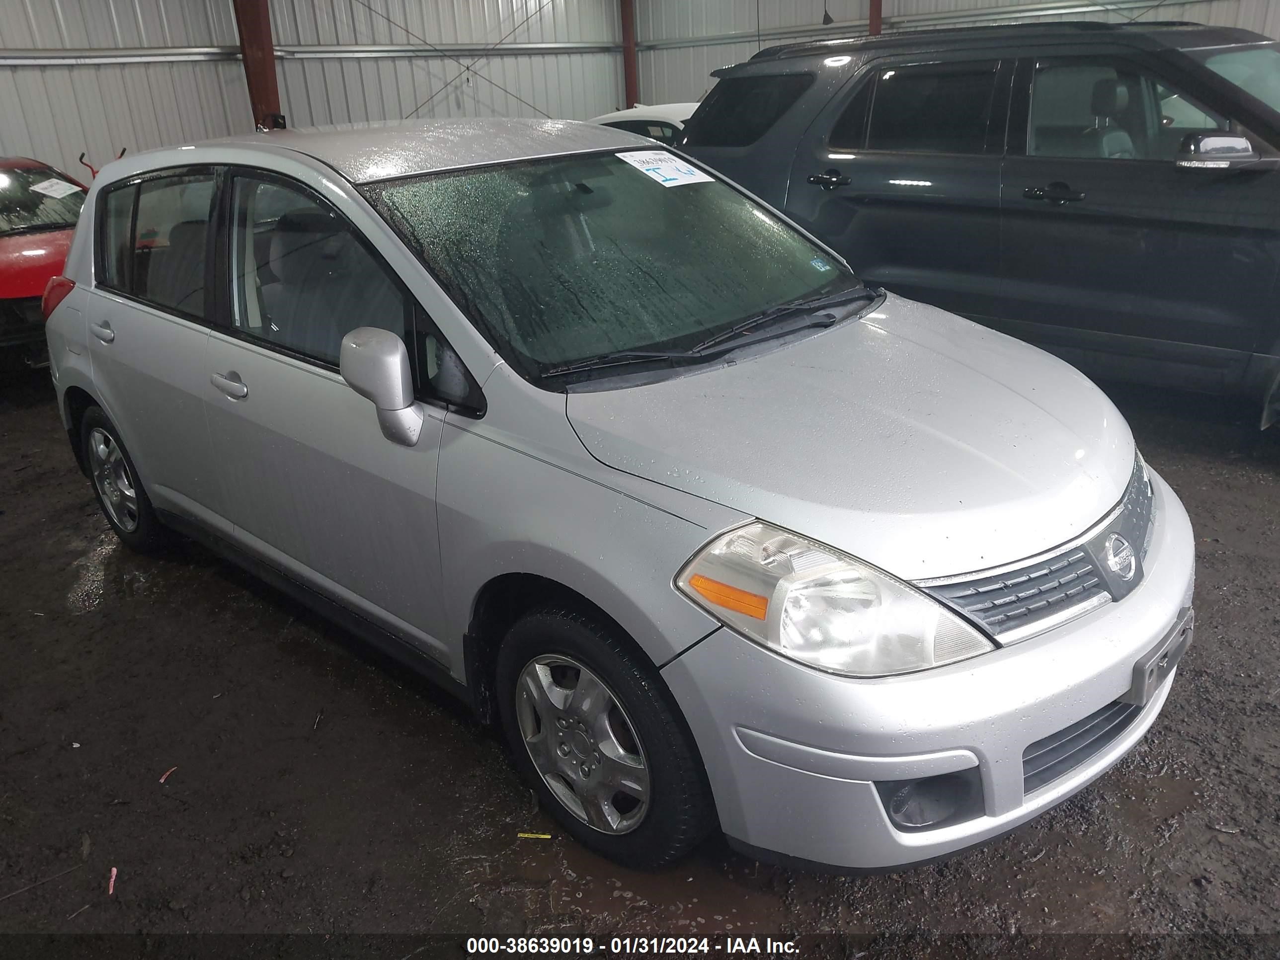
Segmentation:
{"type": "MultiPolygon", "coordinates": [[[[1193,19],[1280,36],[1280,3],[884,0],[886,28],[968,17],[1193,19]],[[1038,8],[1038,9],[1037,9],[1038,8]],[[1107,8],[1107,9],[1103,9],[1107,8]]],[[[696,100],[713,69],[822,23],[822,0],[635,0],[640,99],[696,100]],[[758,15],[759,12],[759,15],[758,15]],[[759,40],[756,35],[759,33],[759,40]]],[[[270,0],[293,127],[419,116],[567,116],[622,106],[618,0],[270,0]],[[503,41],[497,50],[488,47],[503,41]],[[435,49],[428,49],[426,45],[435,49]],[[470,65],[470,69],[467,67],[470,65]],[[461,79],[454,79],[461,77],[461,79]]],[[[835,33],[867,0],[828,0],[835,33]]],[[[844,26],[842,26],[844,24],[844,26]]],[[[69,172],[250,128],[232,0],[0,0],[0,155],[69,172]]]]}

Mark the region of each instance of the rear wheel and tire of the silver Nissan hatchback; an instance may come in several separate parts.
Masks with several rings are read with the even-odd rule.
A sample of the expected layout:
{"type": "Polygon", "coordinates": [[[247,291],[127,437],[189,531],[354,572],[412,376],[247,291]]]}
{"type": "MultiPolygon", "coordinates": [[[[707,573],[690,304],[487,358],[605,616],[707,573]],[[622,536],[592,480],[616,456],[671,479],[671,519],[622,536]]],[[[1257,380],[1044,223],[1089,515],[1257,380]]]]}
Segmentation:
{"type": "Polygon", "coordinates": [[[115,424],[101,407],[90,407],[81,419],[81,449],[97,506],[120,541],[138,553],[164,547],[168,531],[156,517],[115,424]]]}

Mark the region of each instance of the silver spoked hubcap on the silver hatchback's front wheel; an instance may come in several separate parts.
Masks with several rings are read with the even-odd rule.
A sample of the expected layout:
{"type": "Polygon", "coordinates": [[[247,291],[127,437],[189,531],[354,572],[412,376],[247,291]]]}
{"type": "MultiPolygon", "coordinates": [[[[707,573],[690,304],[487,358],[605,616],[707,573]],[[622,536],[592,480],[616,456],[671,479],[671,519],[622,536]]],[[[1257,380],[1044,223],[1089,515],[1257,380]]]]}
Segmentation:
{"type": "Polygon", "coordinates": [[[535,657],[520,672],[516,719],[525,749],[564,808],[602,833],[628,833],[649,810],[649,767],[617,696],[570,657],[535,657]]]}

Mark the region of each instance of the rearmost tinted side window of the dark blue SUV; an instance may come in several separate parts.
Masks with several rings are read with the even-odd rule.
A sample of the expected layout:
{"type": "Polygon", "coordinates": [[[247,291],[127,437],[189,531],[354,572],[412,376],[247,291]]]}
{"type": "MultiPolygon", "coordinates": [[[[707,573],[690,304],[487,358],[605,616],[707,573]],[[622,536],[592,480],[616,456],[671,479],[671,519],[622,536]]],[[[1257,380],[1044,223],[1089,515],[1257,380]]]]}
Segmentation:
{"type": "Polygon", "coordinates": [[[778,122],[813,84],[812,73],[726,77],[686,127],[691,147],[745,147],[778,122]]]}

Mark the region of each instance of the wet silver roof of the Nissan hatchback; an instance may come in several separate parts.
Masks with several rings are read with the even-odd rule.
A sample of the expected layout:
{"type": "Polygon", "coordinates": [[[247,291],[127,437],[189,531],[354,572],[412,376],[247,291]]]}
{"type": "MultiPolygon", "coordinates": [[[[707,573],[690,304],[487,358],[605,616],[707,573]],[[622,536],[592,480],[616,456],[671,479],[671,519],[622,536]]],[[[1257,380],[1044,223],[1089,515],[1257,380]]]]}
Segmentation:
{"type": "Polygon", "coordinates": [[[352,183],[531,160],[593,150],[652,147],[653,141],[576,120],[389,120],[247,133],[200,146],[285,147],[328,164],[352,183]]]}

